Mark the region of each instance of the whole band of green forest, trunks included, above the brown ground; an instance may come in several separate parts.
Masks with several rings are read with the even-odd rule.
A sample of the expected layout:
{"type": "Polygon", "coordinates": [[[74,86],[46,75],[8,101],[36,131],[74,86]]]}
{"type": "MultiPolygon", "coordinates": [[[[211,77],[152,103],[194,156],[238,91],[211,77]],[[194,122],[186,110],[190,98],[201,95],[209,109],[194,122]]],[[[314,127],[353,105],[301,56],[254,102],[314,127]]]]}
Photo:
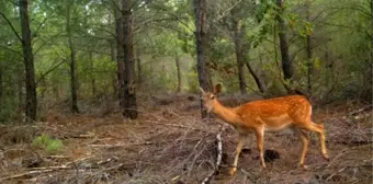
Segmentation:
{"type": "Polygon", "coordinates": [[[120,96],[136,118],[127,111],[138,95],[217,82],[228,93],[281,95],[284,83],[324,103],[370,99],[372,9],[366,0],[1,1],[0,122],[36,119],[61,102],[83,113],[80,101],[99,96],[120,96]]]}

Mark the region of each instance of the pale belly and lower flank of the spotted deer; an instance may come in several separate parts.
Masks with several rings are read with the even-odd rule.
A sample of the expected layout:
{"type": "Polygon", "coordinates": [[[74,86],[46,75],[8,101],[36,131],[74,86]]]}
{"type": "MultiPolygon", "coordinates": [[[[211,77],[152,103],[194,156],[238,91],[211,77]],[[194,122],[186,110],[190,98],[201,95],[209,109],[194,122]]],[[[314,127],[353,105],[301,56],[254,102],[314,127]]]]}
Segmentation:
{"type": "Polygon", "coordinates": [[[264,122],[264,130],[265,131],[279,131],[292,124],[292,119],[287,114],[275,116],[275,117],[265,117],[262,118],[264,122]]]}

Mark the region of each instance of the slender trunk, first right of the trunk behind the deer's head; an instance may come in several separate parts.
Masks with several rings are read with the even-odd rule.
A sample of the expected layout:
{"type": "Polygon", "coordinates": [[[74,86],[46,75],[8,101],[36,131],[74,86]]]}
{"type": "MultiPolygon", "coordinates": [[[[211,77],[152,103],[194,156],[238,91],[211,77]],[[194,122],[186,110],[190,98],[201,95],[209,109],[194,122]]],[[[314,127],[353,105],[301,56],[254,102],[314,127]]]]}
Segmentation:
{"type": "Polygon", "coordinates": [[[242,39],[244,39],[242,36],[245,34],[245,30],[239,26],[238,20],[233,20],[233,28],[234,28],[236,60],[237,60],[237,68],[238,68],[239,90],[241,94],[246,94],[246,82],[245,82],[245,72],[244,72],[244,64],[245,64],[244,59],[245,58],[244,58],[244,50],[242,50],[242,39]]]}

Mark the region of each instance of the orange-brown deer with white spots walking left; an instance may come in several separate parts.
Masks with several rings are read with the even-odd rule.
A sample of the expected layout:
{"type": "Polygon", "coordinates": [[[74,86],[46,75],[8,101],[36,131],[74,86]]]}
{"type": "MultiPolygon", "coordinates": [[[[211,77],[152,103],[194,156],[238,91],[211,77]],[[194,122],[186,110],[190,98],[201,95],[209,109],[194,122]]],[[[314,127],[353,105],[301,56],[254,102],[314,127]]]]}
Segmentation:
{"type": "Polygon", "coordinates": [[[260,164],[263,169],[265,169],[263,158],[264,133],[279,131],[285,128],[290,128],[296,133],[303,143],[298,166],[303,169],[307,168],[304,163],[309,139],[307,131],[318,134],[320,152],[326,160],[329,160],[325,147],[325,128],[323,125],[312,122],[312,105],[307,96],[298,94],[285,95],[251,101],[236,107],[226,107],[217,100],[217,94],[222,90],[221,83],[214,87],[213,92],[205,92],[201,87],[200,90],[204,108],[219,119],[230,124],[238,133],[235,159],[229,169],[230,175],[236,173],[238,157],[250,131],[253,131],[256,135],[260,164]]]}

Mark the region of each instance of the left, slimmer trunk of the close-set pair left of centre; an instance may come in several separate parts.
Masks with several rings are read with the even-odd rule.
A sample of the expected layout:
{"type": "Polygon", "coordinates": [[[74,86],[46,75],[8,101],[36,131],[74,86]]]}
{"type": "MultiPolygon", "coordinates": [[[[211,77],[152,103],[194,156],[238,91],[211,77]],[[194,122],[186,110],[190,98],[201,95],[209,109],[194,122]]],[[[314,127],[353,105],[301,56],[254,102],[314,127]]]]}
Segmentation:
{"type": "MultiPolygon", "coordinates": [[[[116,3],[113,1],[113,3],[116,3]]],[[[117,10],[118,4],[113,4],[114,19],[115,19],[115,33],[116,33],[116,77],[117,77],[117,95],[120,106],[124,108],[124,38],[123,38],[123,16],[117,10]]]]}

